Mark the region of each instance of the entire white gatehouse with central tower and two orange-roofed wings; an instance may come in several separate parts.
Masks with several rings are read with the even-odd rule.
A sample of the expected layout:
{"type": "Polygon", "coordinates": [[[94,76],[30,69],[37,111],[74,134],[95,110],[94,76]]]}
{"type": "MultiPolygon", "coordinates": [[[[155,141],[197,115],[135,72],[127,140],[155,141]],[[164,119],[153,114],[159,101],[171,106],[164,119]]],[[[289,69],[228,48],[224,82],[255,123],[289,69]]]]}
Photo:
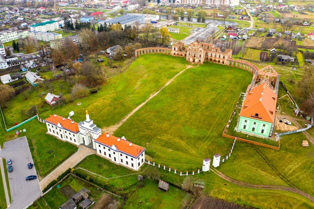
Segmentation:
{"type": "Polygon", "coordinates": [[[89,119],[87,111],[86,120],[79,123],[56,114],[50,115],[45,123],[48,134],[77,146],[92,144],[98,155],[116,164],[138,170],[145,162],[144,147],[132,144],[124,136],[119,138],[108,133],[102,135],[101,129],[89,119]]]}

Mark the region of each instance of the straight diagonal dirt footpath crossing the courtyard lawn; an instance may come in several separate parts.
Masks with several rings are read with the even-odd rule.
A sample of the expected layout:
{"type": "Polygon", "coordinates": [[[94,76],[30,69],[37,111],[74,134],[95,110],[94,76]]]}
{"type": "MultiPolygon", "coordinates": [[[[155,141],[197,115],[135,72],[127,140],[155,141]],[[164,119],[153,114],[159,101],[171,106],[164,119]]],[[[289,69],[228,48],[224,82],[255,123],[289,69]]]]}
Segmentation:
{"type": "Polygon", "coordinates": [[[165,86],[163,86],[160,90],[158,90],[157,92],[151,94],[143,103],[141,103],[140,105],[138,105],[135,109],[133,109],[127,116],[125,116],[120,122],[118,122],[117,124],[110,126],[108,128],[103,128],[101,131],[102,132],[107,132],[110,134],[113,134],[115,130],[117,130],[123,123],[125,123],[125,121],[131,117],[137,110],[139,110],[142,106],[144,106],[149,100],[151,100],[152,98],[154,98],[156,95],[158,95],[166,86],[168,86],[169,84],[171,84],[175,78],[177,78],[181,73],[183,73],[184,71],[186,71],[189,68],[193,68],[194,66],[192,65],[187,65],[187,68],[180,71],[177,75],[175,75],[175,77],[173,77],[172,79],[170,79],[165,86]]]}

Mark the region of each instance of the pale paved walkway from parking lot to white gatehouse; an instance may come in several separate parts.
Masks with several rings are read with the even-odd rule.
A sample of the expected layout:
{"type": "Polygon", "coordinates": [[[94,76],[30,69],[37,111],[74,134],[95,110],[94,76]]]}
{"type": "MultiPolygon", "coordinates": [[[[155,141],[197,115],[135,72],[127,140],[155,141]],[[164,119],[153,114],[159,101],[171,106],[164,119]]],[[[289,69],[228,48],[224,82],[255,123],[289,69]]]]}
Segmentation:
{"type": "Polygon", "coordinates": [[[67,169],[73,168],[76,164],[81,162],[86,156],[91,154],[96,154],[96,150],[80,145],[77,152],[75,152],[71,157],[69,157],[66,161],[64,161],[61,165],[59,165],[56,169],[54,169],[51,173],[49,173],[45,178],[43,178],[40,181],[40,187],[42,189],[46,188],[46,186],[51,181],[56,179],[67,169]]]}

